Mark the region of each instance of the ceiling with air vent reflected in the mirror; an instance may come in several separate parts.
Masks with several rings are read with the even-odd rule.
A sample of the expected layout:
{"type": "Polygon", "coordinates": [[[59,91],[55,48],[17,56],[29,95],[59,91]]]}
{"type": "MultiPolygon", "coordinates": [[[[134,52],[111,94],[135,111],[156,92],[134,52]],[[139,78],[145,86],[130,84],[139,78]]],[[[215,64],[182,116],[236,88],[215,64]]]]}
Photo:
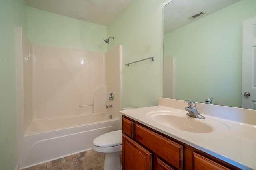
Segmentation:
{"type": "Polygon", "coordinates": [[[164,33],[182,27],[240,0],[173,0],[164,6],[164,33]],[[194,20],[188,19],[199,12],[206,14],[194,20]]]}

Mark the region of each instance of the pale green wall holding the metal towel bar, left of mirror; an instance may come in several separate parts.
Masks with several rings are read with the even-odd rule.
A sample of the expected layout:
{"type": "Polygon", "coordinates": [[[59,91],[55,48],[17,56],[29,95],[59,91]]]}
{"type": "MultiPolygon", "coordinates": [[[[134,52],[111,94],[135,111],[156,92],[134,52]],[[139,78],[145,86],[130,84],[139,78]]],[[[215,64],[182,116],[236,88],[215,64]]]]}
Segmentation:
{"type": "Polygon", "coordinates": [[[133,0],[108,26],[108,50],[123,45],[123,107],[158,104],[162,96],[162,9],[166,0],[133,0]],[[155,57],[130,66],[124,64],[155,57]]]}

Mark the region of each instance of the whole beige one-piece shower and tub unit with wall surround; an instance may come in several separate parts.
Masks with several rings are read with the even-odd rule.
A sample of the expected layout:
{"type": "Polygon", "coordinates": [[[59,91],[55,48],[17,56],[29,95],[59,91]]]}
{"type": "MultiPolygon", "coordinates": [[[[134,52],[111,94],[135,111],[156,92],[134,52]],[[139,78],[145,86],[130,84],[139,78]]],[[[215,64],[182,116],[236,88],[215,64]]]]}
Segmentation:
{"type": "Polygon", "coordinates": [[[96,137],[121,129],[122,46],[100,53],[34,45],[22,27],[16,46],[21,169],[92,149],[96,137]]]}

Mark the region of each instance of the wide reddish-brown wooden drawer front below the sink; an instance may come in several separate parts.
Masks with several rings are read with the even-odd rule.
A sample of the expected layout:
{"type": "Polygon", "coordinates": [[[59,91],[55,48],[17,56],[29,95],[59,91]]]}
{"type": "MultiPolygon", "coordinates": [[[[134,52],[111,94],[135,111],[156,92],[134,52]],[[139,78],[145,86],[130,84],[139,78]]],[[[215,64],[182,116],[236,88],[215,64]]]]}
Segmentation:
{"type": "Polygon", "coordinates": [[[178,169],[183,169],[183,146],[135,124],[136,139],[178,169]]]}

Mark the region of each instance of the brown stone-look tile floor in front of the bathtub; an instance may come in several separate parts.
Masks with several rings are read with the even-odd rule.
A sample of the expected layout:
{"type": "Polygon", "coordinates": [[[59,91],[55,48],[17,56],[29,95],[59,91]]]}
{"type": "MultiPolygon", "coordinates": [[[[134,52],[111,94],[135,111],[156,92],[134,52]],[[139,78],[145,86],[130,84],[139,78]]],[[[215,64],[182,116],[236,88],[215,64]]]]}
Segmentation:
{"type": "Polygon", "coordinates": [[[87,150],[24,170],[103,170],[105,155],[87,150]]]}

